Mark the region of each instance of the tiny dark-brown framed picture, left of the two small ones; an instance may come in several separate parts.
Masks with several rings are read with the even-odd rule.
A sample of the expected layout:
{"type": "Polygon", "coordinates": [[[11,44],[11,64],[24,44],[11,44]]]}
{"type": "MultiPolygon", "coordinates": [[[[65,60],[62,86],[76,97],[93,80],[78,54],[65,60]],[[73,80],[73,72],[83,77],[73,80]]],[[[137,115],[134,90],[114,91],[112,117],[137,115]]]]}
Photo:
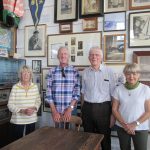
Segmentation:
{"type": "Polygon", "coordinates": [[[72,22],[60,23],[59,32],[60,33],[72,33],[72,22]]]}

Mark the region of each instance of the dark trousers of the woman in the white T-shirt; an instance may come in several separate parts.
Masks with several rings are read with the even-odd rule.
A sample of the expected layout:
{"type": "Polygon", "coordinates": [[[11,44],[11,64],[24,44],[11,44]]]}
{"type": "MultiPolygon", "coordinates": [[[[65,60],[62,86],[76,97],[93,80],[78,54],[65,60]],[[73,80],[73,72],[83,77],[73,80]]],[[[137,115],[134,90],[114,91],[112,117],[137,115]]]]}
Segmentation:
{"type": "Polygon", "coordinates": [[[123,128],[117,127],[120,149],[131,150],[131,138],[135,150],[147,150],[148,131],[136,131],[135,135],[129,135],[123,128]]]}

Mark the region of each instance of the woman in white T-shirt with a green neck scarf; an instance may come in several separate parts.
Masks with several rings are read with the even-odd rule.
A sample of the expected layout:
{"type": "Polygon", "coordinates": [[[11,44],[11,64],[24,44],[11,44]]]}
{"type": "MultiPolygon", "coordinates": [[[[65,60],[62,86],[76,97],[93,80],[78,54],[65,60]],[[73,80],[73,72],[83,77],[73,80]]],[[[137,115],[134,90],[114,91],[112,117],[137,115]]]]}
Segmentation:
{"type": "Polygon", "coordinates": [[[123,70],[126,83],[113,93],[112,111],[116,118],[121,150],[147,150],[150,118],[150,88],[139,82],[140,67],[127,64],[123,70]]]}

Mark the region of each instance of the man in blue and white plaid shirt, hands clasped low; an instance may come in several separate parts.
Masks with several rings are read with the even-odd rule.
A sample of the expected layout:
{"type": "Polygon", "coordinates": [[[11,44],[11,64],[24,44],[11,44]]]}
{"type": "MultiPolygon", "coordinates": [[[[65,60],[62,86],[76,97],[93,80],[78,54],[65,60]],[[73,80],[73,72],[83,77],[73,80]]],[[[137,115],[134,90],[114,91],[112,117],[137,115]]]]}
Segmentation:
{"type": "Polygon", "coordinates": [[[57,57],[60,64],[49,70],[46,101],[55,123],[61,119],[69,122],[80,98],[80,77],[78,71],[68,64],[69,52],[66,47],[59,48],[57,57]]]}

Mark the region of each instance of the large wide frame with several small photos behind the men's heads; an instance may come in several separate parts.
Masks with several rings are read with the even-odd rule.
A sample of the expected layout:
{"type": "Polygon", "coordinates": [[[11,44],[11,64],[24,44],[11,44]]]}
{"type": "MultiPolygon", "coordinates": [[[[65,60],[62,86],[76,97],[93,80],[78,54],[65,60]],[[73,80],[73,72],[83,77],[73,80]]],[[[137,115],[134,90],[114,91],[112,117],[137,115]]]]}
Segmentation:
{"type": "Polygon", "coordinates": [[[74,33],[74,34],[55,34],[48,35],[48,66],[59,64],[57,51],[60,46],[69,49],[69,64],[74,66],[88,66],[88,53],[92,46],[101,48],[101,32],[74,33]]]}

